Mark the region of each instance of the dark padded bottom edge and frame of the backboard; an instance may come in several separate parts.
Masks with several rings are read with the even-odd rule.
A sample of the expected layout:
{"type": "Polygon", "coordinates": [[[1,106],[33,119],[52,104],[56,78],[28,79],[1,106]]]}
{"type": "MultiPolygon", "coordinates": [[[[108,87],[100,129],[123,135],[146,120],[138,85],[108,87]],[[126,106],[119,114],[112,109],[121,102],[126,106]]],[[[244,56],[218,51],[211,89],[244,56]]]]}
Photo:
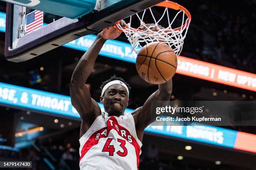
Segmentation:
{"type": "Polygon", "coordinates": [[[8,31],[13,29],[9,24],[13,15],[13,4],[7,3],[5,58],[13,62],[23,62],[55,49],[84,35],[97,33],[103,28],[114,25],[115,22],[134,13],[156,5],[163,0],[125,0],[95,11],[79,19],[61,18],[26,36],[12,42],[13,35],[8,31]]]}

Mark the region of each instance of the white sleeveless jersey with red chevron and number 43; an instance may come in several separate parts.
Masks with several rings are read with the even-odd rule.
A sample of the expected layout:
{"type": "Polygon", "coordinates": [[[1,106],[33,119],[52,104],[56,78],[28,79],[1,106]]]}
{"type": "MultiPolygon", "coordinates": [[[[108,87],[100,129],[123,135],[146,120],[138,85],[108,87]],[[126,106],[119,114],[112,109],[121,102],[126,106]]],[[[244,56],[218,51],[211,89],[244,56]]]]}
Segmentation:
{"type": "Polygon", "coordinates": [[[129,113],[102,112],[79,142],[80,170],[138,170],[142,143],[129,113]]]}

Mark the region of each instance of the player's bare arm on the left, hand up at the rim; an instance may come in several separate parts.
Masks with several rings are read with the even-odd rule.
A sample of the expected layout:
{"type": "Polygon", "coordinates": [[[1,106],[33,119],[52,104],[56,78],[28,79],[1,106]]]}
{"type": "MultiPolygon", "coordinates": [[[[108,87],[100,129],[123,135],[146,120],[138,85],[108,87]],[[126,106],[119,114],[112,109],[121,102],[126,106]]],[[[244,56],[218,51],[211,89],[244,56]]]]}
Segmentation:
{"type": "Polygon", "coordinates": [[[72,105],[75,107],[82,119],[80,136],[86,133],[93,121],[101,114],[101,110],[97,102],[91,98],[90,90],[85,82],[92,72],[95,60],[107,39],[115,39],[121,34],[120,30],[114,27],[105,28],[100,32],[91,47],[79,60],[75,68],[69,92],[72,105]]]}

